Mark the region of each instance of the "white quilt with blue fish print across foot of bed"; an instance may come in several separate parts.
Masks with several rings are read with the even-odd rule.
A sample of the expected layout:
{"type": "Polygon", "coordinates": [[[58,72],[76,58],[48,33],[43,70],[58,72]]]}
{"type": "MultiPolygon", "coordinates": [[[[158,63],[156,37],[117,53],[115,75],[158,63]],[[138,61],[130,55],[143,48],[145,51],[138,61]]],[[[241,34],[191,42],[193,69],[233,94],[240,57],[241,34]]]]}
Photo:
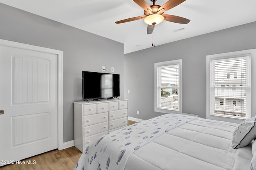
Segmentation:
{"type": "Polygon", "coordinates": [[[86,148],[74,170],[122,170],[135,150],[198,117],[166,114],[101,136],[86,148]]]}

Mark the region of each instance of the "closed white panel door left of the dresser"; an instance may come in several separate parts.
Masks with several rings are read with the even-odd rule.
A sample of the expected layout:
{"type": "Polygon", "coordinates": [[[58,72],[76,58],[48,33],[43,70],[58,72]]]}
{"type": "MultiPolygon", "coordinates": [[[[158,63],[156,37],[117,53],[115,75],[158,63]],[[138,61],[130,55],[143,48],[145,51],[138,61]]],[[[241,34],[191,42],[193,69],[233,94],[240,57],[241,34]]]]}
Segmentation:
{"type": "Polygon", "coordinates": [[[56,54],[0,45],[0,160],[58,148],[57,61],[56,54]]]}

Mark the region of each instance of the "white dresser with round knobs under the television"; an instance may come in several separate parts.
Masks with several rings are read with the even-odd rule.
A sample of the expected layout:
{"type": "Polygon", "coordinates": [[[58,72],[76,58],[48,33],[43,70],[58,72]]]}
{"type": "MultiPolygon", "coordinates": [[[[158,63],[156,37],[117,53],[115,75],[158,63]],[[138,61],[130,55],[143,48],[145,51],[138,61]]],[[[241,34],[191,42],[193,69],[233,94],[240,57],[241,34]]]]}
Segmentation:
{"type": "Polygon", "coordinates": [[[81,152],[99,136],[128,125],[128,99],[74,102],[74,143],[81,152]]]}

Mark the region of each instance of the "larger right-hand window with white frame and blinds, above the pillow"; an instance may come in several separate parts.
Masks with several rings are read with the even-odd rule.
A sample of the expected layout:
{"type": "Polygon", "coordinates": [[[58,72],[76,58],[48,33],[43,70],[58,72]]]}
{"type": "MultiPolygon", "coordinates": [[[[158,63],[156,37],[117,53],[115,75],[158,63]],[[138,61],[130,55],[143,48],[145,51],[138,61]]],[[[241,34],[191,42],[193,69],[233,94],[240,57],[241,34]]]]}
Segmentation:
{"type": "Polygon", "coordinates": [[[251,65],[256,66],[252,57],[255,52],[256,49],[251,49],[207,56],[207,119],[235,122],[226,118],[255,116],[251,94],[255,87],[251,73],[251,65]],[[231,79],[231,73],[234,79],[231,79]]]}

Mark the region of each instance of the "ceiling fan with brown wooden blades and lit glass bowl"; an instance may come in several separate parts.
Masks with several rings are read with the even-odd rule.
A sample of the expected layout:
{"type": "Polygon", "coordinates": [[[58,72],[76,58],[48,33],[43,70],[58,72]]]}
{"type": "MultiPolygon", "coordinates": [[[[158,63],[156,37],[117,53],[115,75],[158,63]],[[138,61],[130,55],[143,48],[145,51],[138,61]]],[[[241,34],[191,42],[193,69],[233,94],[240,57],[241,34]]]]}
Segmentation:
{"type": "Polygon", "coordinates": [[[142,18],[145,18],[144,22],[148,24],[147,34],[152,34],[155,28],[155,25],[159,24],[163,20],[175,22],[179,24],[188,24],[190,22],[190,20],[186,18],[182,18],[180,16],[164,14],[164,12],[181,4],[185,0],[169,0],[162,6],[155,5],[156,0],[150,0],[153,2],[153,5],[150,5],[150,6],[144,0],[133,0],[133,1],[136,2],[136,4],[138,4],[141,8],[144,9],[144,16],[137,16],[137,17],[128,18],[125,20],[120,20],[115,22],[116,24],[121,24],[124,22],[130,22],[130,21],[135,21],[135,20],[140,20],[142,18]]]}

